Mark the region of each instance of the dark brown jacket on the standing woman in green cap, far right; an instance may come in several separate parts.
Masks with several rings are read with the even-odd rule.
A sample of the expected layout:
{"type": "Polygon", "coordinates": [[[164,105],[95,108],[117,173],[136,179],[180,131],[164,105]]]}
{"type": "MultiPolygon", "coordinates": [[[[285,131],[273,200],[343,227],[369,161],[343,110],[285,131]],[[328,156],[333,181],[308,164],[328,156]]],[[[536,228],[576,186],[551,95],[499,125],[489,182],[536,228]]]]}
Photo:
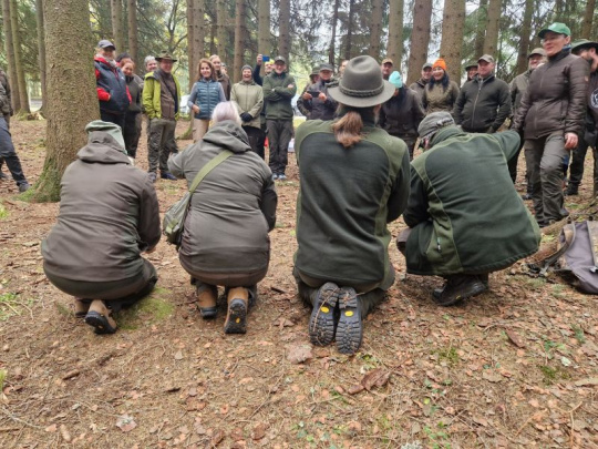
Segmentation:
{"type": "Polygon", "coordinates": [[[513,124],[517,132],[525,129],[525,139],[554,132],[582,136],[589,67],[569,51],[548,58],[529,76],[513,124]]]}

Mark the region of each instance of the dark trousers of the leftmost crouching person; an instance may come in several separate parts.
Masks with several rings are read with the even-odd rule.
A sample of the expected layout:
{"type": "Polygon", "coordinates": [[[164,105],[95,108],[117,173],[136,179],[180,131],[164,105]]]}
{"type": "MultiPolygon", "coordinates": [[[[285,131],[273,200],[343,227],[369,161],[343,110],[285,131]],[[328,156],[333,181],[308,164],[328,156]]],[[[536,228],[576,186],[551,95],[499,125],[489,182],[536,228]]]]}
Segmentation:
{"type": "Polygon", "coordinates": [[[106,305],[116,312],[136,303],[154,289],[157,282],[156,268],[145,258],[143,263],[143,271],[138,275],[118,280],[73,280],[53,276],[48,272],[45,276],[54,287],[65,294],[84,300],[105,300],[106,305]]]}

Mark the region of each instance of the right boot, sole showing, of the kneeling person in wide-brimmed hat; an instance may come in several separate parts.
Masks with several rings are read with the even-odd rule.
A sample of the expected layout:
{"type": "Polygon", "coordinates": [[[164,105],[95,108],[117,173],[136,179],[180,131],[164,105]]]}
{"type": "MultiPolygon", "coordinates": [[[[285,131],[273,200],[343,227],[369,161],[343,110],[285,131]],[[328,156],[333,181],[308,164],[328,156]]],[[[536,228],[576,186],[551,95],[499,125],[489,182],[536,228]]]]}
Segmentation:
{"type": "Polygon", "coordinates": [[[341,288],[338,297],[340,317],[337,326],[337,348],[341,354],[355,354],[363,337],[359,299],[351,287],[341,288]]]}

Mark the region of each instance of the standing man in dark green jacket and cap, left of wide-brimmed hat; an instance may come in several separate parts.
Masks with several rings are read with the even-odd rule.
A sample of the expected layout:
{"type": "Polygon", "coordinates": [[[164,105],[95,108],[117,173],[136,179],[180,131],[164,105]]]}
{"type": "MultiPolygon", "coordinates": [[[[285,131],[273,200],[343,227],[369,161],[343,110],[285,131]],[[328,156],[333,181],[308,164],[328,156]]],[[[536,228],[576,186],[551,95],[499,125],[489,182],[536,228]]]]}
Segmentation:
{"type": "Polygon", "coordinates": [[[293,118],[291,100],[296,93],[295,79],[287,73],[287,60],[282,57],[276,57],[272,73],[264,79],[266,125],[270,142],[269,165],[275,181],[287,178],[285,171],[287,170],[293,118]]]}

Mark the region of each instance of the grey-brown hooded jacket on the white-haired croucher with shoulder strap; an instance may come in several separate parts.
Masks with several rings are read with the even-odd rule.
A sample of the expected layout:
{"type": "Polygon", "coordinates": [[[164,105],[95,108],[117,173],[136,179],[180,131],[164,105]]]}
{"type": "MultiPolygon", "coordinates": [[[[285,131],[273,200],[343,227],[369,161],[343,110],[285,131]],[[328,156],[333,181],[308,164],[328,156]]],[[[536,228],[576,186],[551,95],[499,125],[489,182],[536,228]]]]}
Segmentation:
{"type": "Polygon", "coordinates": [[[168,160],[187,185],[224,150],[234,154],[212,170],[192,195],[178,252],[190,273],[247,274],[268,267],[277,195],[268,165],[233,121],[212,126],[204,139],[168,160]]]}

